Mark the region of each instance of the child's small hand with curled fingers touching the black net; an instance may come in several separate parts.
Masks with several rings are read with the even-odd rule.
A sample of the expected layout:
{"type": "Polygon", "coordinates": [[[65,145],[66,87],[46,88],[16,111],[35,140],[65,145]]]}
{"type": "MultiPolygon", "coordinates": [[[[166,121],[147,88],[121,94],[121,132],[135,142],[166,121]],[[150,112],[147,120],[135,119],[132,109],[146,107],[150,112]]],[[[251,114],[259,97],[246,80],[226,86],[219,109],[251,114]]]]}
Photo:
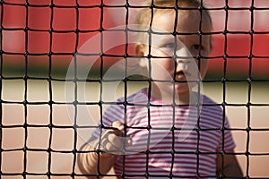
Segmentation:
{"type": "MultiPolygon", "coordinates": [[[[132,141],[128,137],[124,137],[124,124],[119,121],[113,122],[111,128],[106,130],[100,140],[101,155],[123,155],[125,145],[132,145],[132,141]],[[104,153],[105,152],[105,153],[104,153]]],[[[98,148],[99,149],[99,148],[98,148]]]]}

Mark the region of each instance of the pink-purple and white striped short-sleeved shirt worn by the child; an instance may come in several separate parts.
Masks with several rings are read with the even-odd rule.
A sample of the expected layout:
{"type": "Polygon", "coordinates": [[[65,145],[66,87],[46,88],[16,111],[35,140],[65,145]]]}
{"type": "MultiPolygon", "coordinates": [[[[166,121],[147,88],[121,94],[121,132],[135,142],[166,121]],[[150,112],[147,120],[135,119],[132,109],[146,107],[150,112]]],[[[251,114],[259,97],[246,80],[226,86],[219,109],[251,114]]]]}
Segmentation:
{"type": "MultiPolygon", "coordinates": [[[[160,105],[163,102],[156,98],[148,105],[146,91],[126,98],[127,103],[118,99],[102,116],[104,126],[114,121],[126,124],[126,136],[133,142],[126,146],[126,155],[117,157],[116,174],[125,178],[215,178],[217,152],[235,148],[221,107],[204,95],[199,108],[160,105]]],[[[100,130],[93,136],[100,138],[100,130]]]]}

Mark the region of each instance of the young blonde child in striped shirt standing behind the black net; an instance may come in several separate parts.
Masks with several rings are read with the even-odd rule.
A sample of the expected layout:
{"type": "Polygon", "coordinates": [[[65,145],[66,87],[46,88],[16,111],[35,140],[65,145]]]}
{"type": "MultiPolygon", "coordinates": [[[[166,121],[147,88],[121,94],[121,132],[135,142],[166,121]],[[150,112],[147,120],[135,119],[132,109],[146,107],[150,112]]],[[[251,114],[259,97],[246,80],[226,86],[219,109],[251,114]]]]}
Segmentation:
{"type": "Polygon", "coordinates": [[[199,2],[155,0],[151,9],[149,1],[137,15],[152,27],[135,46],[151,85],[108,107],[78,156],[89,178],[111,167],[117,178],[242,177],[221,107],[192,90],[212,49],[212,20],[199,2]]]}

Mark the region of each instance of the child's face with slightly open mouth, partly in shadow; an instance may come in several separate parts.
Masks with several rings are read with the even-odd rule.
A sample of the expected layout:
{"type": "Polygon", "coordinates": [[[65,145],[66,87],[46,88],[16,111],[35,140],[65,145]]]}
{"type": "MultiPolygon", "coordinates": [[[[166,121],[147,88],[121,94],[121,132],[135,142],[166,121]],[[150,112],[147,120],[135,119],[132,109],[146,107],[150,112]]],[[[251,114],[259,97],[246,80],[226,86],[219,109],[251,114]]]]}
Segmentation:
{"type": "MultiPolygon", "coordinates": [[[[210,54],[211,38],[209,35],[203,35],[200,41],[197,34],[200,30],[200,19],[199,13],[180,12],[178,13],[176,30],[179,33],[186,34],[179,34],[177,37],[171,34],[152,34],[150,49],[150,54],[153,56],[151,60],[152,80],[197,81],[198,75],[201,79],[204,79],[207,71],[207,60],[202,58],[199,63],[196,56],[199,55],[199,47],[201,47],[200,55],[208,56],[210,54]],[[193,35],[189,33],[193,33],[193,35]],[[175,55],[177,57],[172,57],[175,55]],[[154,56],[157,58],[154,58],[154,56]]],[[[174,26],[175,13],[156,14],[152,21],[153,31],[171,33],[174,31],[174,26]]],[[[211,23],[207,17],[203,18],[202,31],[211,31],[211,23]]],[[[141,47],[136,52],[141,55],[148,55],[149,47],[141,47]]],[[[143,60],[143,62],[141,63],[142,66],[149,70],[148,62],[146,60],[143,60]]],[[[179,94],[188,92],[195,84],[195,82],[175,82],[175,87],[179,94]]],[[[158,87],[160,90],[167,90],[167,92],[171,92],[173,89],[172,85],[168,85],[166,82],[162,84],[160,82],[158,87]]]]}

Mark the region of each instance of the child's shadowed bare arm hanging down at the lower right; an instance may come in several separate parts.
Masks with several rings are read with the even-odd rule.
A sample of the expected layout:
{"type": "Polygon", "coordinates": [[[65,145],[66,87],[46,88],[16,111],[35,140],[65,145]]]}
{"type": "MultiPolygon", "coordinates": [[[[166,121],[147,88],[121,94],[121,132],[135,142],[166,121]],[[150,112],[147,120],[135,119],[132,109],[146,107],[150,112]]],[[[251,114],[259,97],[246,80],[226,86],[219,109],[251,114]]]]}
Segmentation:
{"type": "MultiPolygon", "coordinates": [[[[232,153],[233,151],[231,151],[232,153]]],[[[226,177],[243,178],[242,170],[235,155],[224,154],[217,156],[217,175],[225,175],[226,177]],[[223,159],[223,166],[222,166],[223,159]]]]}

